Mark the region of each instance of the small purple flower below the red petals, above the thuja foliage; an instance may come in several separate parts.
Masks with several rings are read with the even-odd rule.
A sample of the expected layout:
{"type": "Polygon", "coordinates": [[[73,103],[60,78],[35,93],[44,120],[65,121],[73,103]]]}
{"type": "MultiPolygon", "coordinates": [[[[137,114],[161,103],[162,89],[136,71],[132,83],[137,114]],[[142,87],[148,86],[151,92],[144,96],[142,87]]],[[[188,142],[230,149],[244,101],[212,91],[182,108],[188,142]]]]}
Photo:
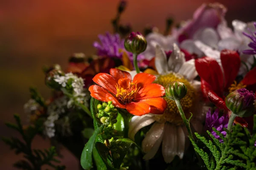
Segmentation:
{"type": "Polygon", "coordinates": [[[229,121],[228,115],[222,115],[220,118],[219,115],[219,109],[215,109],[213,114],[211,114],[211,109],[206,114],[206,122],[205,122],[205,130],[209,130],[212,135],[218,139],[221,143],[223,143],[223,139],[220,138],[213,130],[212,127],[214,127],[216,130],[218,130],[221,134],[226,136],[226,132],[224,131],[224,128],[227,129],[227,124],[229,121]]]}

